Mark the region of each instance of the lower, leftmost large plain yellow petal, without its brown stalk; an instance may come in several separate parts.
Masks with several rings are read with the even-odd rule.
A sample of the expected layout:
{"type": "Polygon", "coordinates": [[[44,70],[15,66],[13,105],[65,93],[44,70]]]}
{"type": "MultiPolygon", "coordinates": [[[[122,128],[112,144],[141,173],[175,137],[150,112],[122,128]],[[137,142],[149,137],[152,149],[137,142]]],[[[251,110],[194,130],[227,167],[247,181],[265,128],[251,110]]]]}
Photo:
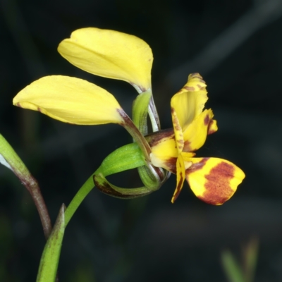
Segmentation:
{"type": "Polygon", "coordinates": [[[62,75],[40,78],[21,90],[13,104],[66,123],[122,123],[123,111],[112,94],[86,80],[62,75]]]}

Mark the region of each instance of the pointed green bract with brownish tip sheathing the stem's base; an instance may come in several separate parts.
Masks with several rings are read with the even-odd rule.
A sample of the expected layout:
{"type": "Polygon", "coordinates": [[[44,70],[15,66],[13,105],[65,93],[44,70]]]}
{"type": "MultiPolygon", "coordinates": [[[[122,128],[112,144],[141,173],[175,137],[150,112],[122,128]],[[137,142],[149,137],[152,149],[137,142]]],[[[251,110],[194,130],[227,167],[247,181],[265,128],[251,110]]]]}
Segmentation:
{"type": "Polygon", "coordinates": [[[44,247],[37,274],[37,282],[54,282],[58,269],[63,233],[65,232],[65,205],[62,204],[54,228],[44,247]]]}

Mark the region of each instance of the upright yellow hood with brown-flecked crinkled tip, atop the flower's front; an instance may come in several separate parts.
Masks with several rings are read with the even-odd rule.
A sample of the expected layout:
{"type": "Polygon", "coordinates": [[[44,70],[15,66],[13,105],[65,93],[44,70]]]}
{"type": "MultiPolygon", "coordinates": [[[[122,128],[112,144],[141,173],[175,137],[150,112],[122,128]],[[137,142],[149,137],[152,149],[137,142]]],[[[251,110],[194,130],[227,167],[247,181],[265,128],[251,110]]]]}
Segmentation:
{"type": "Polygon", "coordinates": [[[192,73],[184,87],[172,97],[171,108],[176,111],[183,130],[202,113],[207,102],[206,86],[199,73],[192,73]]]}

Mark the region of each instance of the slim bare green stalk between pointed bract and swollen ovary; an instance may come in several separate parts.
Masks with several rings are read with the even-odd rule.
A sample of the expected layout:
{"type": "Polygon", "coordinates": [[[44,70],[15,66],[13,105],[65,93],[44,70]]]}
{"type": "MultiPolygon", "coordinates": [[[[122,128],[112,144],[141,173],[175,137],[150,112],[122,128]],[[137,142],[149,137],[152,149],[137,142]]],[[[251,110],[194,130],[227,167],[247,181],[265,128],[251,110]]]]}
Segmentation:
{"type": "Polygon", "coordinates": [[[88,195],[88,193],[94,188],[94,182],[93,182],[93,176],[96,173],[96,171],[86,180],[86,182],[82,185],[80,190],[76,193],[75,197],[73,197],[73,200],[68,205],[66,211],[65,211],[65,227],[68,225],[68,222],[73,217],[73,214],[78,209],[82,201],[85,199],[85,197],[88,195]]]}

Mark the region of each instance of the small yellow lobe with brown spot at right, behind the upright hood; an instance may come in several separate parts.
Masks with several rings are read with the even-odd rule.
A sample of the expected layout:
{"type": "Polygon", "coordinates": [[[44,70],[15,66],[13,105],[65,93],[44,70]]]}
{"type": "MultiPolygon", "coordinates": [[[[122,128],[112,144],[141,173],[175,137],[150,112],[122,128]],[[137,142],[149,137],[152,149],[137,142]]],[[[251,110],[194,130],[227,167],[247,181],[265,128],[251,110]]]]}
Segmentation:
{"type": "Polygon", "coordinates": [[[216,130],[216,122],[212,120],[214,114],[212,114],[212,109],[204,110],[197,118],[188,125],[188,127],[183,132],[184,138],[184,148],[185,152],[194,152],[202,145],[207,139],[207,134],[209,131],[209,125],[213,124],[213,130],[216,130]]]}

